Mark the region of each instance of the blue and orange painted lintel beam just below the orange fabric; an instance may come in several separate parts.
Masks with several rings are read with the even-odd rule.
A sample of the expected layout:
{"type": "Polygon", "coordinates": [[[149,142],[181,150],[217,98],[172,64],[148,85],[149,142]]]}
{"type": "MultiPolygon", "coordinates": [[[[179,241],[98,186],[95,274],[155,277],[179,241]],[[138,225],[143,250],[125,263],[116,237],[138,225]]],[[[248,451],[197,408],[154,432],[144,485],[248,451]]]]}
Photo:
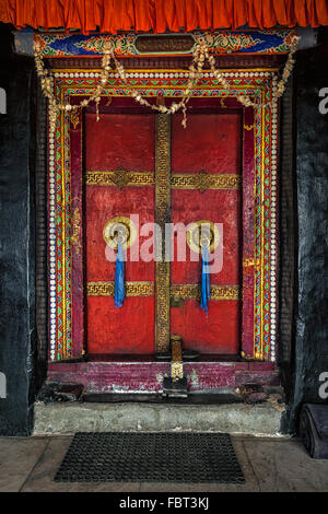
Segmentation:
{"type": "Polygon", "coordinates": [[[296,31],[281,28],[267,31],[196,31],[188,34],[39,34],[35,33],[35,39],[39,42],[43,48],[44,57],[93,57],[104,52],[104,45],[110,40],[115,52],[120,57],[132,56],[161,56],[161,55],[190,55],[195,48],[197,38],[202,36],[206,38],[210,49],[214,54],[288,54],[290,51],[290,43],[296,31]],[[169,51],[167,46],[163,51],[140,51],[138,49],[138,38],[147,36],[150,38],[172,39],[176,36],[192,37],[195,43],[187,50],[173,49],[169,51]]]}

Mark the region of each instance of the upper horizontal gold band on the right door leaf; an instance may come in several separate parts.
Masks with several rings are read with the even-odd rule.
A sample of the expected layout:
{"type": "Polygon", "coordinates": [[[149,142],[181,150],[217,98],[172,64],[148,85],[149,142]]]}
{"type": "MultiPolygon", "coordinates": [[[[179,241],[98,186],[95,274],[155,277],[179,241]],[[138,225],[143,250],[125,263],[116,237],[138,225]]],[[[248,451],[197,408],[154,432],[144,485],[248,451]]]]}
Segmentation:
{"type": "Polygon", "coordinates": [[[241,175],[214,175],[204,172],[172,175],[171,184],[176,189],[198,189],[204,192],[207,189],[238,189],[242,187],[241,175]]]}

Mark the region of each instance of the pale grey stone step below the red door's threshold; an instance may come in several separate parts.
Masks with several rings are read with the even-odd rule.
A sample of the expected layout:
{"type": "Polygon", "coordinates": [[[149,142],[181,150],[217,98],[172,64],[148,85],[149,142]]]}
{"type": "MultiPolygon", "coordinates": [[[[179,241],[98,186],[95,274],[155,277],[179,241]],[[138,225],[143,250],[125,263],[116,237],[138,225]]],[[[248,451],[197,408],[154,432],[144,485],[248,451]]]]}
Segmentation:
{"type": "Polygon", "coordinates": [[[273,402],[223,405],[34,405],[34,435],[74,432],[229,432],[277,436],[283,407],[273,402]]]}

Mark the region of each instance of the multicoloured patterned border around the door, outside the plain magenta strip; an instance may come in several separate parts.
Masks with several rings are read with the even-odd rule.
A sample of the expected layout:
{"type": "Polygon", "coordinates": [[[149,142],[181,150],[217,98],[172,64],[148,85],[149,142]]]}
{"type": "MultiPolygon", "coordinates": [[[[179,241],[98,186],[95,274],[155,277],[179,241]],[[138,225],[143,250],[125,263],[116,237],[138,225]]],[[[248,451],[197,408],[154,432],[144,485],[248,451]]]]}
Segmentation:
{"type": "MultiPolygon", "coordinates": [[[[62,101],[70,96],[91,94],[101,77],[99,70],[54,70],[56,95],[62,101]]],[[[277,70],[246,69],[224,72],[234,92],[248,93],[262,102],[272,98],[277,70]]],[[[187,73],[183,70],[128,70],[132,86],[141,94],[181,96],[187,73]]],[[[106,95],[128,96],[116,73],[108,81],[106,95]]],[[[229,102],[227,92],[220,89],[210,72],[195,92],[196,97],[221,97],[229,102]]],[[[247,269],[254,270],[254,349],[246,358],[276,360],[277,317],[277,103],[254,110],[255,133],[255,253],[248,257],[247,269]],[[250,266],[250,268],[249,268],[250,266]]],[[[251,109],[253,110],[253,109],[251,109]]],[[[245,119],[245,124],[248,121],[245,119]]],[[[62,360],[72,352],[71,308],[71,156],[70,118],[58,115],[55,135],[49,135],[49,292],[50,292],[50,360],[62,360]]]]}

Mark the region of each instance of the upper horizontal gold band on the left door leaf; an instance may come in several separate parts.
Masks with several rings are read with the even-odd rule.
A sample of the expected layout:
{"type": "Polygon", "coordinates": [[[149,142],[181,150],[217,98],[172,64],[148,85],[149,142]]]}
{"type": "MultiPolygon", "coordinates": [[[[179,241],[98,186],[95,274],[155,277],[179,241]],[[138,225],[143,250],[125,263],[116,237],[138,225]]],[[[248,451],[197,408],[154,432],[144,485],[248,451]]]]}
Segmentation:
{"type": "Polygon", "coordinates": [[[152,172],[128,172],[122,168],[116,171],[87,171],[85,174],[86,186],[117,186],[122,189],[126,186],[153,186],[155,177],[152,172]]]}

